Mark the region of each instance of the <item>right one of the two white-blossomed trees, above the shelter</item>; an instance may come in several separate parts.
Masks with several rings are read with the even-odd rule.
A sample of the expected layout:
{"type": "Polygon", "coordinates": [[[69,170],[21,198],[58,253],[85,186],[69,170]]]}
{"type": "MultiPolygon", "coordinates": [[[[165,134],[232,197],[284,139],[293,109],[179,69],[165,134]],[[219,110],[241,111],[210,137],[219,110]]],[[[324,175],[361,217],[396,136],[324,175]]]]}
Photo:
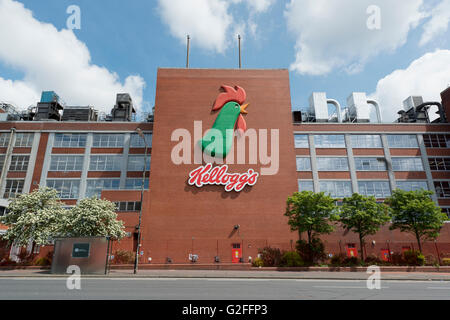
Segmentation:
{"type": "Polygon", "coordinates": [[[117,220],[116,207],[108,200],[88,198],[68,211],[62,223],[68,237],[125,237],[123,221],[117,220]]]}

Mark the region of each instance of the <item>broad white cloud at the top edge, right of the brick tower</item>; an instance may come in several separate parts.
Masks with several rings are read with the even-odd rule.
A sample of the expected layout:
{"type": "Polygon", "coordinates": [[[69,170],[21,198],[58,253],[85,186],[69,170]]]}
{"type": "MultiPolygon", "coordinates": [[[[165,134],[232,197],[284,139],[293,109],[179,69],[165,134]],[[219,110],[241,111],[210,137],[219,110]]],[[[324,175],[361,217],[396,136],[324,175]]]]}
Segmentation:
{"type": "Polygon", "coordinates": [[[382,52],[402,46],[424,17],[423,0],[291,0],[285,10],[288,30],[296,38],[291,70],[323,75],[335,69],[363,70],[382,52]],[[381,29],[369,30],[367,8],[381,9],[381,29]]]}

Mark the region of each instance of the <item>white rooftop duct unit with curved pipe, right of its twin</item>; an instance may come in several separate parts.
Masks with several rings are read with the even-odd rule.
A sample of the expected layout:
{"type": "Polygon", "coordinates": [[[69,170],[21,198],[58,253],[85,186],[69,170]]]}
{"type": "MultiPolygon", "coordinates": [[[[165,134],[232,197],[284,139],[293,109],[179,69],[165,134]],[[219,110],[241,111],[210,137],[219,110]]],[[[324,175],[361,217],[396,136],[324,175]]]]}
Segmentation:
{"type": "Polygon", "coordinates": [[[370,122],[370,106],[375,107],[378,123],[381,123],[381,111],[377,101],[367,99],[365,92],[353,92],[347,98],[348,115],[352,122],[370,122]]]}

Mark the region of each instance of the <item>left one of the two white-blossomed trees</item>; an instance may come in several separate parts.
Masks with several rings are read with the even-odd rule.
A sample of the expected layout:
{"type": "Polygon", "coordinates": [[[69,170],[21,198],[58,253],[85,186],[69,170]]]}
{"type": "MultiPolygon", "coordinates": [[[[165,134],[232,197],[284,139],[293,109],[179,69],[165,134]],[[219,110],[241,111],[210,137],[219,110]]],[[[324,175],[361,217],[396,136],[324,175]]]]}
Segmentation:
{"type": "Polygon", "coordinates": [[[0,223],[8,227],[2,238],[18,246],[25,246],[30,240],[46,245],[60,235],[65,215],[54,189],[42,187],[19,195],[9,204],[8,214],[0,217],[0,223]]]}

